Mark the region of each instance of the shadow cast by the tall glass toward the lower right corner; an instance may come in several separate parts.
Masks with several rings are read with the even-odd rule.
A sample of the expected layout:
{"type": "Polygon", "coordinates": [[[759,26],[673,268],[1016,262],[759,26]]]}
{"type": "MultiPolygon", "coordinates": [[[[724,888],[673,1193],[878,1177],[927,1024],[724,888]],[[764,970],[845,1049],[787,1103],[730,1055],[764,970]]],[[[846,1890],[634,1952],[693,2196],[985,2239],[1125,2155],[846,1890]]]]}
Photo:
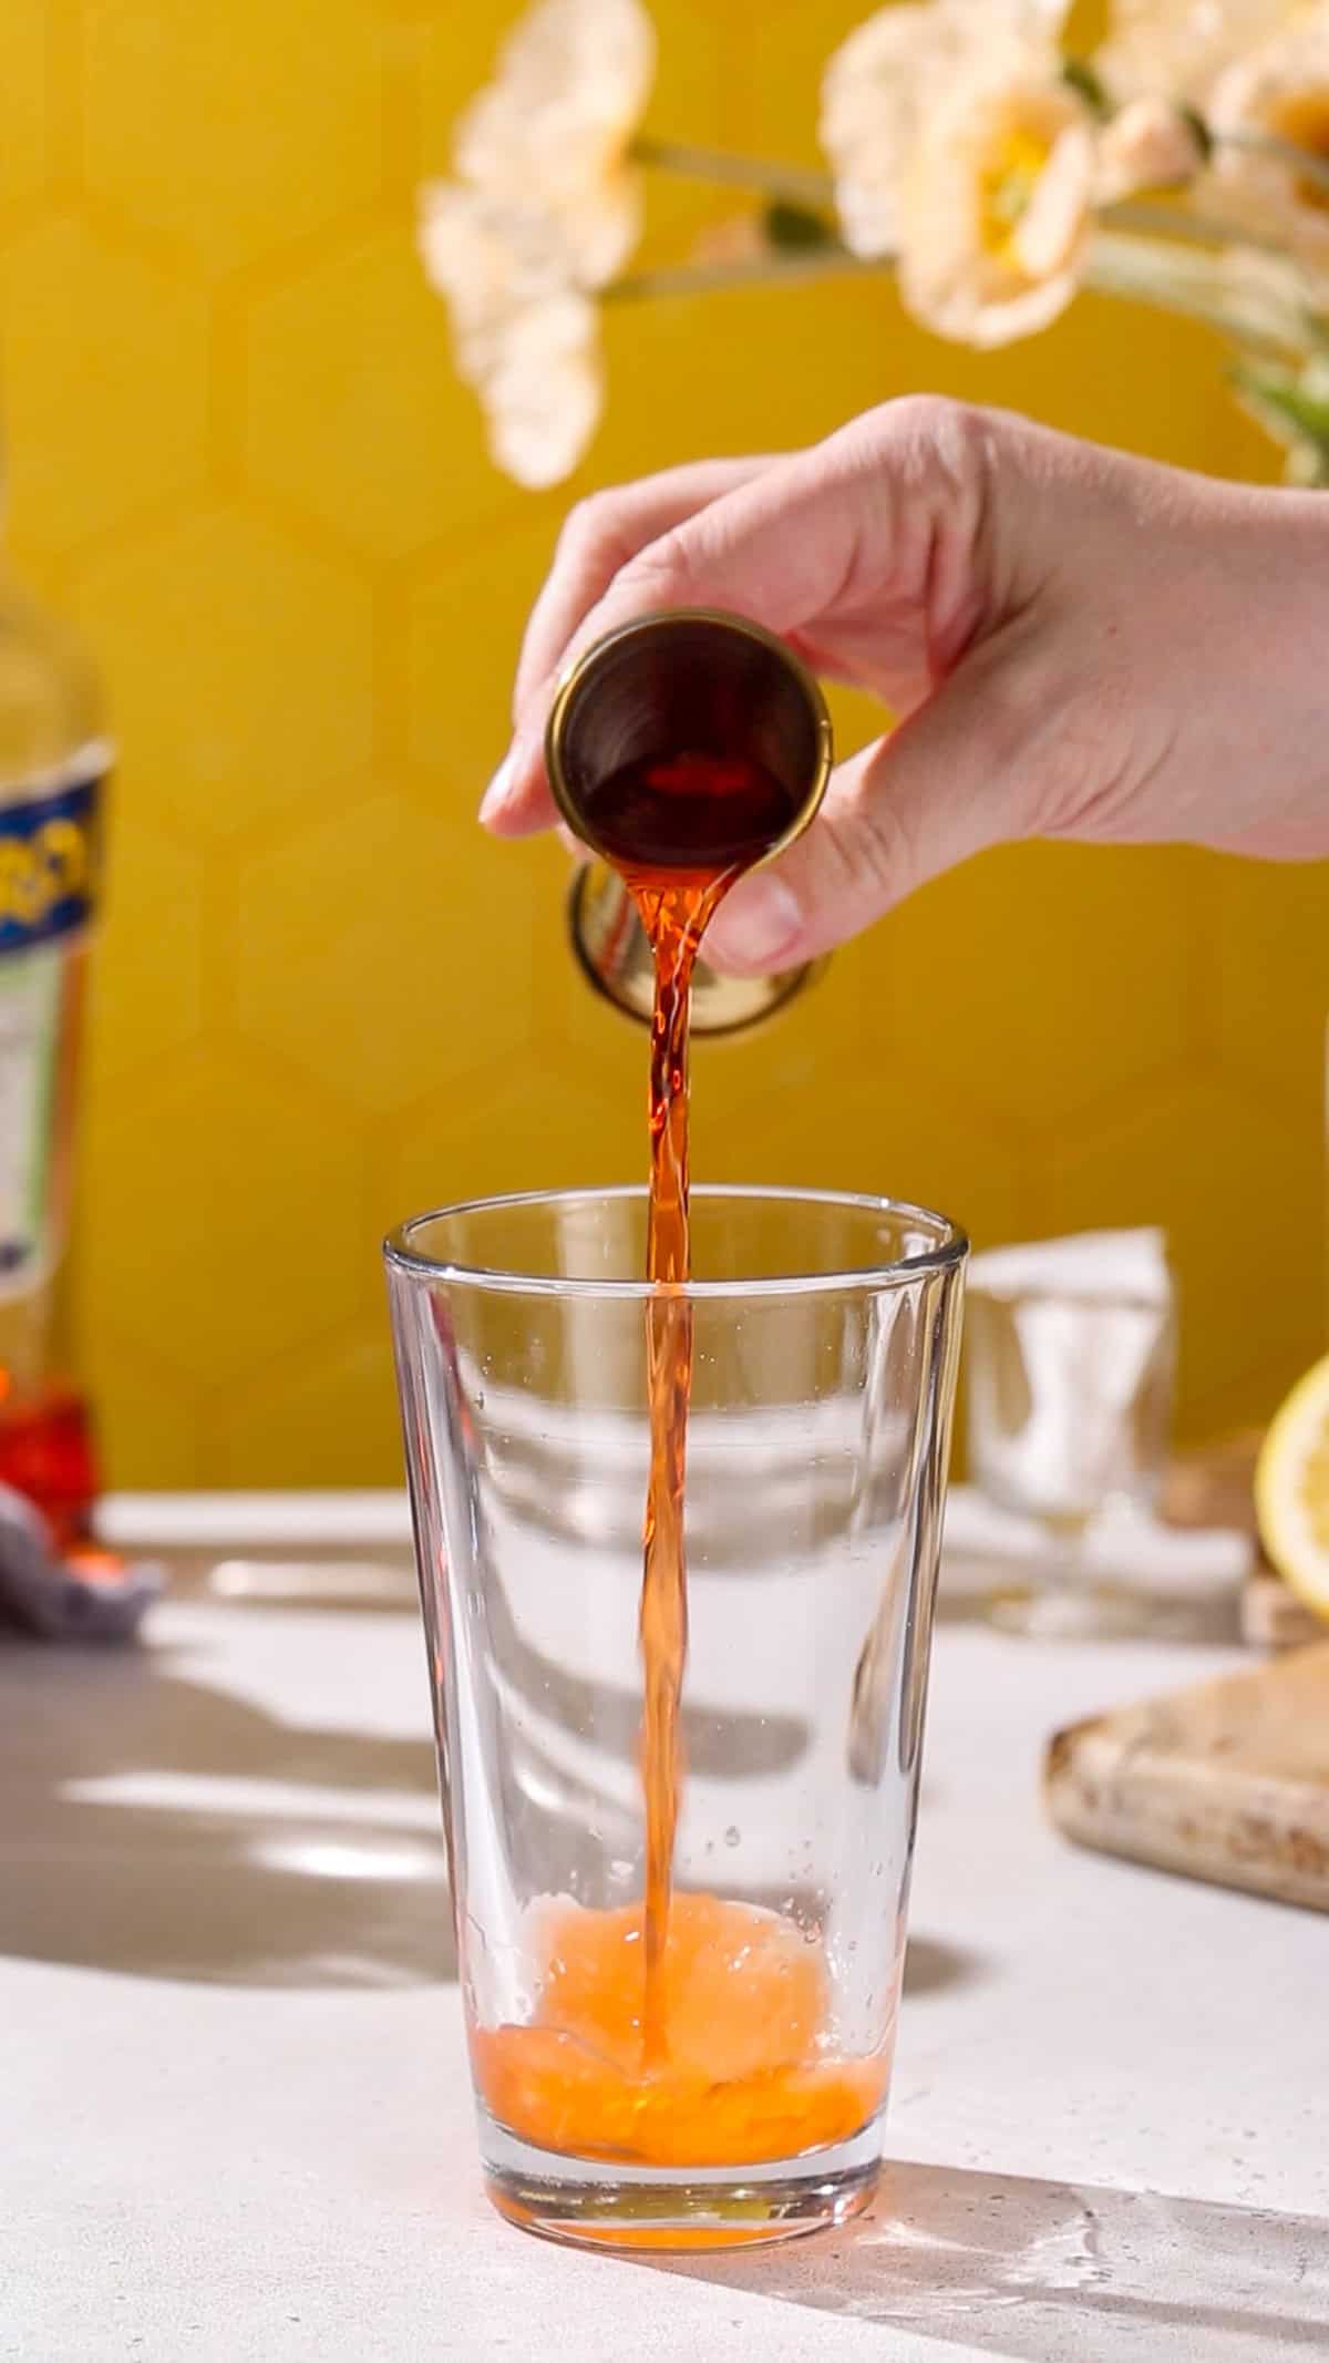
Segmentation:
{"type": "Polygon", "coordinates": [[[1329,2354],[1322,2219],[970,2167],[895,2162],[871,2214],[843,2233],[649,2268],[1008,2363],[1329,2354]]]}

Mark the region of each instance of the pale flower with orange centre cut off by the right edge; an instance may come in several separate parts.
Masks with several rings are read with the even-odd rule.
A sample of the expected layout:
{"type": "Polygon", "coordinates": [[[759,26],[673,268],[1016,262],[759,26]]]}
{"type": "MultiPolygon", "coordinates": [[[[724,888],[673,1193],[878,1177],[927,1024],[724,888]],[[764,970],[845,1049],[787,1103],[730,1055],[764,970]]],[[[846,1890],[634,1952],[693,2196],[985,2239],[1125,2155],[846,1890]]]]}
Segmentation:
{"type": "Polygon", "coordinates": [[[1213,85],[1209,128],[1225,210],[1329,262],[1329,7],[1301,9],[1287,33],[1230,66],[1213,85]],[[1303,149],[1320,172],[1277,149],[1303,149]]]}

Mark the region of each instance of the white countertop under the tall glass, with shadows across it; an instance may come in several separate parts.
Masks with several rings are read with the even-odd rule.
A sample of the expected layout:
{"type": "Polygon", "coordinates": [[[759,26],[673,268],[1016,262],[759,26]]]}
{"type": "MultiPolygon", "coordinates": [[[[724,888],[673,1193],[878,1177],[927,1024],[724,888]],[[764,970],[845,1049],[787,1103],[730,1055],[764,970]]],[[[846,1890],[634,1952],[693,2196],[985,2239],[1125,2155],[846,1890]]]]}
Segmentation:
{"type": "Polygon", "coordinates": [[[420,1633],[340,1578],[0,1645],[2,2363],[1329,2354],[1329,1921],[1039,1815],[1048,1730],[1235,1652],[942,1626],[876,2214],[618,2261],[482,2198],[420,1633]]]}

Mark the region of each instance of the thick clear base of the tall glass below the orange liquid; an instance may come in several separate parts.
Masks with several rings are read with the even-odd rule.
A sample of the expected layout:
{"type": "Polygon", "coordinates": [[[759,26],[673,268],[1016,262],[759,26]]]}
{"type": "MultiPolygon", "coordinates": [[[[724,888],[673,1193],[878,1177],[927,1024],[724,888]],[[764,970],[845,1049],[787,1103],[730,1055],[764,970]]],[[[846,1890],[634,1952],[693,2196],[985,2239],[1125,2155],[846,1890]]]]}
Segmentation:
{"type": "Polygon", "coordinates": [[[517,2141],[482,2110],[489,2198],[508,2224],[571,2247],[765,2247],[862,2214],[880,2169],[880,2131],[760,2167],[618,2167],[517,2141]]]}

